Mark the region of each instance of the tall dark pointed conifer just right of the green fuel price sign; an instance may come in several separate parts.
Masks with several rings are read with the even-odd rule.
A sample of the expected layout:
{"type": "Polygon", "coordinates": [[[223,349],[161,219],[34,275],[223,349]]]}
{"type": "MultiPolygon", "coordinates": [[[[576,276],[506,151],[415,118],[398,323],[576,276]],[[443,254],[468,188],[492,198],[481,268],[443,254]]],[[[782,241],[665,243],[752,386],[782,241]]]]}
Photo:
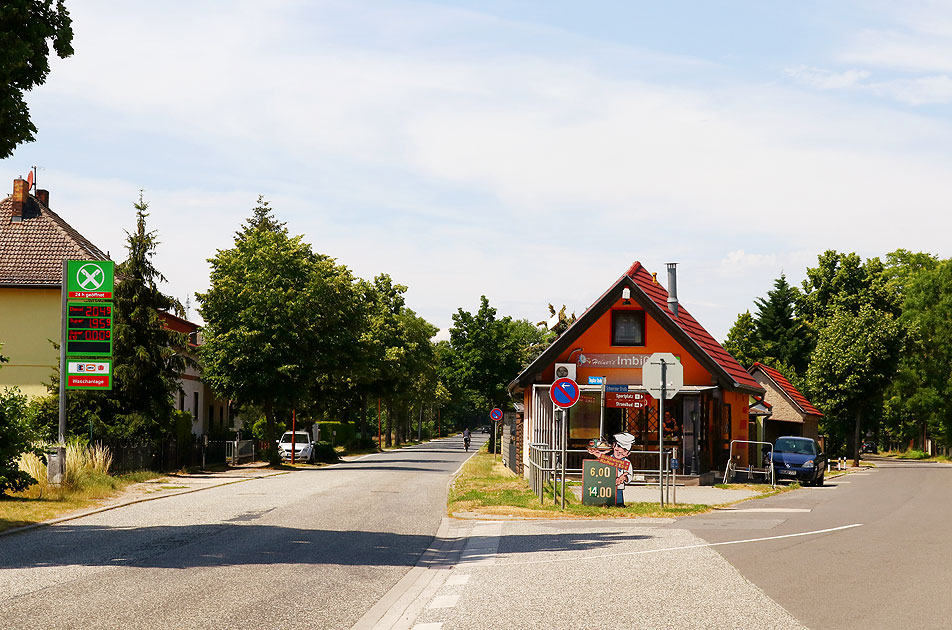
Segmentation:
{"type": "MultiPolygon", "coordinates": [[[[149,205],[139,195],[136,230],[126,232],[126,260],[116,267],[113,317],[112,433],[147,435],[153,439],[174,428],[174,393],[185,370],[182,351],[187,339],[167,328],[159,317],[175,301],[159,291],[165,277],[152,264],[158,245],[146,229],[149,205]]],[[[105,420],[105,419],[103,419],[105,420]]]]}

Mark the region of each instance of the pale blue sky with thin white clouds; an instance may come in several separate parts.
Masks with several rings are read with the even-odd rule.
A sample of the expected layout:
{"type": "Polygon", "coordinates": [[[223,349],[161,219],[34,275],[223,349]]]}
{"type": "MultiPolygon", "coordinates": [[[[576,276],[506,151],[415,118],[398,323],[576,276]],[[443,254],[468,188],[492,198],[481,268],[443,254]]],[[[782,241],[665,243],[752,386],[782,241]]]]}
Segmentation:
{"type": "Polygon", "coordinates": [[[952,257],[947,2],[66,4],[6,194],[37,166],[122,260],[143,191],[194,321],[259,195],[439,338],[481,295],[581,315],[637,260],[723,341],[825,250],[952,257]]]}

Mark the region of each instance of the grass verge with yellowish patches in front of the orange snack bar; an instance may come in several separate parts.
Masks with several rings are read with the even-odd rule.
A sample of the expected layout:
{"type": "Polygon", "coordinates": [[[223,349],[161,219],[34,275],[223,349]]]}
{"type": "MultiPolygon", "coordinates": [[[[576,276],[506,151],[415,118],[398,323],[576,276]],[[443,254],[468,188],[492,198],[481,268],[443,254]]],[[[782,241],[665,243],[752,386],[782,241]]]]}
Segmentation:
{"type": "Polygon", "coordinates": [[[450,515],[468,512],[516,518],[671,518],[711,510],[711,506],[693,504],[664,508],[657,503],[629,503],[625,507],[582,505],[570,492],[566,492],[565,510],[561,510],[555,504],[551,489],[545,491],[540,504],[528,481],[513,474],[498,457],[495,462],[493,459],[491,454],[480,452],[463,466],[450,488],[447,501],[450,515]]]}

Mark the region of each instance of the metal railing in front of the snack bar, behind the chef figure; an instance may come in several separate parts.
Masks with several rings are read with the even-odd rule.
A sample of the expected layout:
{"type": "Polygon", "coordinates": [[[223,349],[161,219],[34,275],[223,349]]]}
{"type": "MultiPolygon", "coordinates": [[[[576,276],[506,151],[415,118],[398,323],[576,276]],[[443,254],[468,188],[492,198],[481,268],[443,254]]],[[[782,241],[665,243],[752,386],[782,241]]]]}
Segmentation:
{"type": "MultiPolygon", "coordinates": [[[[575,475],[579,480],[582,478],[582,468],[568,468],[565,465],[569,454],[590,455],[587,450],[583,449],[552,448],[545,443],[529,444],[529,487],[532,489],[532,492],[539,497],[540,504],[544,503],[545,489],[551,483],[553,500],[556,502],[561,500],[562,508],[565,508],[566,478],[569,475],[575,475]]],[[[671,469],[671,451],[663,451],[660,454],[664,458],[663,466],[632,468],[631,481],[626,485],[656,485],[659,488],[662,505],[666,501],[668,503],[677,504],[677,490],[674,488],[675,472],[671,469]],[[652,478],[657,479],[657,481],[650,482],[649,480],[652,478]]],[[[629,461],[636,455],[657,457],[659,452],[631,451],[628,454],[629,461]]],[[[644,458],[640,457],[639,459],[643,460],[644,458]]]]}

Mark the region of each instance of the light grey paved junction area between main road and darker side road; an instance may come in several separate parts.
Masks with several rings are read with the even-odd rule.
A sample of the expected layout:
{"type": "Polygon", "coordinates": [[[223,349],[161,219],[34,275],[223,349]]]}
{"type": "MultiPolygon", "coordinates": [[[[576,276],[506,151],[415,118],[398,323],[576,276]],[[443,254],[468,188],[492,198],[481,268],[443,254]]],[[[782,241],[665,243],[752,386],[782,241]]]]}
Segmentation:
{"type": "Polygon", "coordinates": [[[353,630],[803,627],[672,523],[445,519],[430,552],[353,630]]]}

